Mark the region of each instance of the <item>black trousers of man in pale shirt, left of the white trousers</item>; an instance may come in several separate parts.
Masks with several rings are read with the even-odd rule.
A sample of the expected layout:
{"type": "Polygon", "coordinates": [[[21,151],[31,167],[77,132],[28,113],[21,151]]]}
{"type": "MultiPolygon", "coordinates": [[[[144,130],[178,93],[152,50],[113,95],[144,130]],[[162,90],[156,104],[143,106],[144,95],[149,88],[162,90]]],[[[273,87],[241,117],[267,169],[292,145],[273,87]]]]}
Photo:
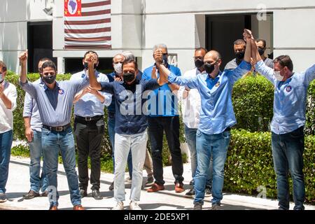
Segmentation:
{"type": "Polygon", "coordinates": [[[90,183],[92,190],[99,190],[101,177],[101,144],[104,135],[104,120],[74,120],[74,134],[78,148],[78,178],[82,190],[87,190],[89,174],[87,158],[91,160],[90,183]]]}

